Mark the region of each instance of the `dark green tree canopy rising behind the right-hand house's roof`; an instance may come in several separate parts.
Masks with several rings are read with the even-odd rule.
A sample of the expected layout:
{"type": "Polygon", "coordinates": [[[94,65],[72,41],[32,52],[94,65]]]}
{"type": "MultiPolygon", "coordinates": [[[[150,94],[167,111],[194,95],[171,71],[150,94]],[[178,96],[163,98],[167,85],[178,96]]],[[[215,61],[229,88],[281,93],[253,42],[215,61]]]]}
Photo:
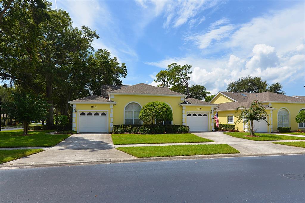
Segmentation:
{"type": "Polygon", "coordinates": [[[285,94],[282,90],[283,86],[280,83],[267,84],[266,80],[262,80],[261,77],[242,77],[237,81],[228,83],[227,91],[229,92],[248,92],[248,93],[259,93],[270,91],[278,94],[285,94]]]}

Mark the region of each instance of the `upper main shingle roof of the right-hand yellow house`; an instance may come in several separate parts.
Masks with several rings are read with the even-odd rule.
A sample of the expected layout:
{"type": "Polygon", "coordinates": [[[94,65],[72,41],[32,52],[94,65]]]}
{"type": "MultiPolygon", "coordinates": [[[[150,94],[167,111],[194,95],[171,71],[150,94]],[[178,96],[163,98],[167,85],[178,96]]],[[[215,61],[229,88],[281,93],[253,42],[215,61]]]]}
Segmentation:
{"type": "Polygon", "coordinates": [[[291,102],[302,103],[305,102],[305,98],[295,98],[283,94],[277,94],[273,92],[260,92],[260,93],[243,93],[243,92],[221,92],[222,94],[236,100],[237,102],[252,102],[258,100],[259,102],[291,102]],[[242,94],[246,95],[243,96],[242,94]]]}

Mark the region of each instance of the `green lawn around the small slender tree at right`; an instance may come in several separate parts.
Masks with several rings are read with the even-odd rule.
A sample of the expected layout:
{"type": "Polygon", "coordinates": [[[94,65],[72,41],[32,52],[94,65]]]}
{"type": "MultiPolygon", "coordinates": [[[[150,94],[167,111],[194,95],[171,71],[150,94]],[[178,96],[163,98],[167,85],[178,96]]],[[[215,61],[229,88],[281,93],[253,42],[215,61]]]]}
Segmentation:
{"type": "Polygon", "coordinates": [[[224,133],[230,135],[232,137],[238,137],[247,140],[254,140],[254,141],[269,141],[269,140],[305,140],[305,137],[294,137],[294,136],[286,136],[286,135],[275,135],[275,134],[263,134],[263,133],[256,133],[256,136],[259,137],[245,137],[245,135],[250,135],[249,133],[244,132],[229,132],[224,133]]]}

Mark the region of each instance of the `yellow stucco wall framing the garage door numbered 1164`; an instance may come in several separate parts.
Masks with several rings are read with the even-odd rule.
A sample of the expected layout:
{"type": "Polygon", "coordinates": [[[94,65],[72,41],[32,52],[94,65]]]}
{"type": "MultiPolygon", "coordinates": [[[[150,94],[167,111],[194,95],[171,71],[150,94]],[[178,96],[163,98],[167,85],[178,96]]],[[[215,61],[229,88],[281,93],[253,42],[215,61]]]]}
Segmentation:
{"type": "Polygon", "coordinates": [[[107,123],[107,126],[108,126],[108,132],[111,132],[111,127],[110,127],[110,123],[111,123],[111,116],[112,116],[112,110],[111,110],[111,107],[112,105],[109,105],[109,104],[74,104],[73,105],[73,108],[76,108],[77,112],[74,112],[73,111],[73,114],[72,114],[72,129],[75,130],[75,131],[78,131],[77,129],[77,119],[79,117],[79,114],[81,110],[83,111],[92,111],[92,113],[95,112],[99,112],[99,111],[106,111],[108,112],[107,113],[107,116],[108,116],[108,123],[107,123]]]}

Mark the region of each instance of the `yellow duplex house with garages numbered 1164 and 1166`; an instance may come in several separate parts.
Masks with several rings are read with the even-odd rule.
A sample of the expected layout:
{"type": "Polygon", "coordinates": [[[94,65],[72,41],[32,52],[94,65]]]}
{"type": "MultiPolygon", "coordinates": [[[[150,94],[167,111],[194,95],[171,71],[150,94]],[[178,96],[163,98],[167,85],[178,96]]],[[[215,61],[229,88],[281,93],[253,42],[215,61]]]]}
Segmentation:
{"type": "Polygon", "coordinates": [[[212,131],[217,104],[187,98],[167,87],[140,83],[102,85],[101,96],[91,95],[68,102],[73,107],[73,130],[77,132],[111,132],[113,125],[142,124],[139,112],[148,102],[167,103],[172,121],[163,124],[188,125],[191,131],[212,131]]]}

